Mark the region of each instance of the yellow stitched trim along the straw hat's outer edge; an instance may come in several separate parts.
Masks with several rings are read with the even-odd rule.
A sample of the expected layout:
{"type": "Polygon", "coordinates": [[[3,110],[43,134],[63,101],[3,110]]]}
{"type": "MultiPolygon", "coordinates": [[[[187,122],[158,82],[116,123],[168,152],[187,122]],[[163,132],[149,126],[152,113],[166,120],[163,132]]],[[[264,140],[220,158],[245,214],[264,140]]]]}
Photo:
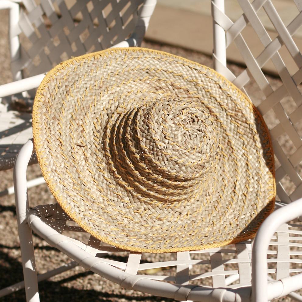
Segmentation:
{"type": "Polygon", "coordinates": [[[150,248],[134,248],[128,245],[123,245],[123,244],[117,244],[115,242],[112,242],[110,240],[107,239],[107,237],[102,237],[99,234],[93,232],[89,226],[87,226],[85,223],[82,222],[82,220],[77,219],[75,217],[75,215],[72,214],[72,212],[70,211],[70,209],[65,208],[65,203],[63,202],[63,200],[58,196],[58,192],[54,190],[54,184],[52,184],[52,179],[48,176],[48,171],[45,168],[44,164],[43,164],[43,158],[41,157],[41,152],[38,151],[39,150],[39,145],[40,145],[40,139],[39,139],[39,132],[40,132],[40,128],[41,128],[41,124],[39,123],[39,103],[42,102],[41,100],[41,95],[43,93],[43,91],[45,90],[45,86],[47,83],[50,82],[51,78],[54,78],[55,76],[57,76],[57,74],[59,72],[61,72],[61,70],[64,70],[66,66],[69,65],[73,65],[74,63],[79,63],[80,61],[86,59],[86,58],[100,58],[100,57],[109,57],[111,53],[154,53],[154,54],[162,54],[166,57],[170,57],[170,58],[178,58],[180,61],[182,62],[187,62],[190,63],[192,65],[196,65],[196,66],[202,66],[203,68],[205,68],[206,70],[210,71],[212,74],[214,74],[217,78],[219,78],[224,84],[226,84],[227,86],[229,86],[229,88],[231,88],[232,90],[235,90],[235,92],[237,92],[237,95],[240,96],[241,98],[244,98],[248,104],[249,104],[249,109],[251,111],[254,112],[257,122],[260,124],[261,126],[264,128],[265,132],[264,132],[264,139],[265,140],[269,140],[269,144],[267,148],[270,148],[272,150],[272,154],[271,154],[271,161],[268,161],[268,168],[269,171],[272,174],[271,177],[271,181],[269,182],[269,200],[271,200],[267,205],[266,205],[266,210],[265,213],[263,215],[264,219],[269,216],[269,214],[272,213],[272,211],[274,210],[275,207],[275,198],[276,198],[276,181],[275,181],[275,160],[274,160],[274,154],[273,154],[273,149],[272,149],[272,141],[271,141],[271,137],[269,135],[269,129],[267,128],[267,125],[265,124],[265,121],[262,117],[262,115],[260,114],[260,112],[258,111],[258,109],[254,106],[254,104],[251,102],[251,100],[241,91],[239,90],[232,82],[230,82],[228,79],[226,79],[224,76],[222,76],[221,74],[219,74],[218,72],[216,72],[215,70],[213,70],[212,68],[209,68],[207,66],[204,66],[202,64],[198,64],[194,61],[182,58],[180,56],[176,56],[173,54],[168,54],[164,51],[157,51],[157,50],[151,50],[148,48],[139,48],[139,47],[128,47],[128,48],[111,48],[111,49],[107,49],[107,50],[103,50],[103,51],[98,51],[98,52],[94,52],[91,54],[84,54],[82,56],[76,57],[76,58],[71,58],[67,61],[64,61],[62,63],[60,63],[59,65],[55,66],[53,69],[51,69],[51,71],[49,71],[46,76],[44,77],[44,79],[42,80],[40,86],[37,89],[37,93],[36,93],[36,97],[34,99],[34,104],[33,104],[33,144],[34,144],[34,148],[36,150],[37,153],[37,159],[38,162],[40,164],[40,168],[42,171],[42,175],[45,179],[45,182],[48,186],[48,188],[50,189],[51,193],[53,194],[54,198],[57,200],[58,204],[61,206],[61,208],[68,214],[68,216],[70,216],[76,223],[79,224],[79,226],[81,226],[83,228],[83,230],[85,230],[87,233],[93,235],[94,237],[96,237],[97,239],[113,245],[117,248],[121,248],[121,249],[125,249],[128,251],[135,251],[135,252],[147,252],[147,253],[172,253],[172,252],[181,252],[181,251],[195,251],[195,250],[202,250],[202,249],[207,249],[207,248],[219,248],[221,246],[224,245],[228,245],[228,244],[234,244],[234,243],[238,243],[244,240],[248,240],[248,239],[252,239],[255,237],[256,232],[258,230],[258,228],[260,227],[260,225],[262,224],[262,222],[264,221],[264,219],[259,220],[256,227],[253,230],[250,230],[249,232],[239,235],[237,236],[235,239],[229,239],[229,240],[225,240],[225,241],[219,241],[217,243],[212,243],[212,244],[205,244],[205,245],[196,245],[196,246],[191,246],[191,247],[178,247],[178,248],[168,248],[168,249],[150,249],[150,248]]]}

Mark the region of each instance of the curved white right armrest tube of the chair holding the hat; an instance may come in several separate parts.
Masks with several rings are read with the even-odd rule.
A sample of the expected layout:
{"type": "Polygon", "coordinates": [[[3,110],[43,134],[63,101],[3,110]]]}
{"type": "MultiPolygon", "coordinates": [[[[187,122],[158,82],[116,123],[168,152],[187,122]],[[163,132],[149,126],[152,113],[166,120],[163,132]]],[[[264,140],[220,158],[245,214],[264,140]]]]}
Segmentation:
{"type": "MultiPolygon", "coordinates": [[[[302,198],[292,202],[284,207],[277,209],[260,226],[255,237],[252,248],[252,301],[253,302],[267,302],[267,250],[269,242],[275,231],[283,223],[302,215],[302,198]]],[[[300,276],[292,276],[292,286],[295,286],[294,280],[300,276]],[[295,277],[295,278],[294,278],[295,277]]],[[[300,276],[300,281],[302,277],[300,276]]],[[[280,281],[281,282],[281,281],[280,281]]],[[[284,289],[285,290],[285,289],[284,289]]],[[[295,289],[293,289],[295,290],[295,289]]]]}

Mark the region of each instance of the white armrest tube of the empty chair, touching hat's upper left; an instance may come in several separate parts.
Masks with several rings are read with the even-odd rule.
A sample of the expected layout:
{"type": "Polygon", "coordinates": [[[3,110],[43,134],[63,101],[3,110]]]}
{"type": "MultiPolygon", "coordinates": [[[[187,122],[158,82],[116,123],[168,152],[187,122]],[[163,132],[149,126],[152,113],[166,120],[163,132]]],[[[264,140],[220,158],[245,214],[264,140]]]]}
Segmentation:
{"type": "Polygon", "coordinates": [[[0,97],[7,97],[15,93],[37,88],[43,80],[44,76],[45,73],[41,73],[37,76],[31,76],[30,78],[3,84],[0,86],[0,97]]]}

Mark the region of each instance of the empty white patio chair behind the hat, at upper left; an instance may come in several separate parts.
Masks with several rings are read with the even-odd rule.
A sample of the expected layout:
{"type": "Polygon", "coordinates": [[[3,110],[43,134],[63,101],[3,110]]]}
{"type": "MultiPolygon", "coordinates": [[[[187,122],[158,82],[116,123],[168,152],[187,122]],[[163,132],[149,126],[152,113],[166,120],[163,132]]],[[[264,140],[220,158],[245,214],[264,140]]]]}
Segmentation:
{"type": "MultiPolygon", "coordinates": [[[[0,86],[0,171],[13,167],[21,146],[32,137],[29,111],[45,72],[72,56],[114,46],[139,46],[155,5],[155,1],[145,1],[142,7],[143,2],[42,0],[37,5],[34,0],[0,1],[0,9],[9,9],[14,80],[0,86]]],[[[37,163],[34,154],[32,163],[37,163]]],[[[29,181],[29,186],[43,182],[39,177],[29,181]]],[[[12,193],[13,187],[0,196],[12,193]]]]}

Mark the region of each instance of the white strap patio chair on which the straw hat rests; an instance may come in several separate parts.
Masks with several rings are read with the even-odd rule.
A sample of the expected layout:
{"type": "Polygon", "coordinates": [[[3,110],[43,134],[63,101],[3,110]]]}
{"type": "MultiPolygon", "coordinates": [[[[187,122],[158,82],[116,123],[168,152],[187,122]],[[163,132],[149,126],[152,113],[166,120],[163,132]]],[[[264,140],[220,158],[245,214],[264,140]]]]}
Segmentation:
{"type": "Polygon", "coordinates": [[[232,22],[224,13],[223,0],[212,1],[214,19],[214,62],[216,69],[244,89],[250,78],[254,78],[264,93],[258,109],[265,115],[269,110],[276,114],[276,125],[271,127],[271,137],[276,161],[277,194],[279,209],[272,213],[258,230],[253,242],[244,241],[222,248],[201,251],[165,254],[161,261],[158,255],[127,253],[127,261],[115,261],[107,252],[125,253],[125,250],[100,245],[100,241],[90,237],[84,244],[62,234],[64,230],[81,231],[72,227],[69,218],[54,205],[38,206],[30,210],[26,195],[26,167],[33,153],[32,141],[21,149],[16,163],[14,183],[22,252],[23,272],[28,301],[38,301],[37,276],[31,231],[39,234],[51,246],[58,248],[85,269],[89,269],[127,289],[169,297],[174,300],[191,301],[257,301],[263,302],[290,295],[297,301],[302,296],[294,291],[302,288],[302,269],[291,265],[301,263],[302,226],[299,221],[286,223],[302,214],[302,180],[300,154],[302,140],[295,128],[300,122],[302,66],[301,53],[291,36],[301,26],[302,3],[297,3],[297,16],[286,27],[279,18],[270,0],[238,1],[244,15],[232,22]],[[271,39],[257,12],[263,8],[275,26],[278,36],[271,39]],[[250,23],[263,44],[263,51],[253,57],[241,34],[250,23]],[[225,50],[232,41],[242,53],[248,68],[237,78],[225,67],[225,50]],[[297,71],[290,74],[278,50],[282,45],[288,49],[297,64],[297,71]],[[282,85],[273,91],[261,68],[272,59],[282,79],[282,85]],[[295,110],[286,113],[281,100],[289,95],[296,103],[295,110]],[[286,134],[293,148],[286,150],[280,146],[278,137],[286,134]],[[283,187],[284,177],[290,178],[294,189],[288,193],[283,187]],[[299,199],[300,198],[300,199],[299,199]],[[287,204],[288,205],[284,205],[287,204]],[[283,206],[284,205],[284,206],[283,206]],[[152,258],[152,261],[147,259],[152,258]],[[252,261],[251,261],[252,259],[252,261]],[[144,260],[144,261],[142,261],[144,260]],[[269,265],[269,267],[268,267],[269,265]],[[158,274],[155,273],[157,268],[158,274]],[[164,268],[164,269],[163,269],[164,268]]]}

